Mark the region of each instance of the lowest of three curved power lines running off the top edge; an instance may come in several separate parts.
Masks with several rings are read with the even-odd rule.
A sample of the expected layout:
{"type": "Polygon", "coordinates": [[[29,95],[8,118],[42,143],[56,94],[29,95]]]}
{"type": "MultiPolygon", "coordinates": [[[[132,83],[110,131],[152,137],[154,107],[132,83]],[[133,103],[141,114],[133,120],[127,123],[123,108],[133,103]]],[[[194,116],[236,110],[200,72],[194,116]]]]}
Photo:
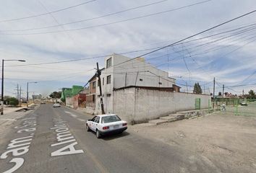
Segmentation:
{"type": "Polygon", "coordinates": [[[166,11],[163,11],[163,12],[156,12],[156,13],[153,13],[153,14],[147,14],[147,15],[143,15],[143,16],[140,16],[140,17],[133,17],[133,18],[129,18],[129,19],[119,20],[119,21],[116,21],[116,22],[110,22],[110,23],[101,24],[101,25],[93,25],[93,26],[90,26],[90,27],[80,27],[80,28],[74,28],[74,29],[69,29],[69,30],[61,30],[61,31],[56,30],[56,31],[48,31],[48,32],[17,33],[17,34],[0,33],[0,35],[41,35],[41,34],[53,34],[53,33],[57,33],[57,32],[87,30],[87,29],[90,29],[90,28],[103,27],[103,26],[108,26],[108,25],[114,25],[116,23],[131,21],[131,20],[135,20],[135,19],[142,19],[142,18],[145,18],[145,17],[151,17],[151,16],[155,16],[155,15],[163,14],[163,13],[167,13],[167,12],[174,12],[174,11],[177,11],[179,9],[188,8],[190,6],[195,6],[195,5],[198,5],[198,4],[203,4],[203,3],[206,3],[208,1],[212,1],[212,0],[200,1],[200,2],[197,2],[195,4],[190,4],[190,5],[187,5],[187,6],[181,6],[181,7],[178,7],[178,8],[175,8],[175,9],[169,9],[169,10],[166,10],[166,11]]]}

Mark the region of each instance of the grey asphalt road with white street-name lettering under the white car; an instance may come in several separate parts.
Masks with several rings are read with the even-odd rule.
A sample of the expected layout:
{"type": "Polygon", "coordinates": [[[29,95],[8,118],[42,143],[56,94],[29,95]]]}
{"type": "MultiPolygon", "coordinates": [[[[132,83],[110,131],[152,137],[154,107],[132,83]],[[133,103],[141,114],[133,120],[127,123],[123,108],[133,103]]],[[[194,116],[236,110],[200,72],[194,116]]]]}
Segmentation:
{"type": "Polygon", "coordinates": [[[89,118],[40,105],[9,127],[0,172],[216,172],[189,151],[137,136],[129,126],[121,135],[98,139],[85,130],[89,118]]]}

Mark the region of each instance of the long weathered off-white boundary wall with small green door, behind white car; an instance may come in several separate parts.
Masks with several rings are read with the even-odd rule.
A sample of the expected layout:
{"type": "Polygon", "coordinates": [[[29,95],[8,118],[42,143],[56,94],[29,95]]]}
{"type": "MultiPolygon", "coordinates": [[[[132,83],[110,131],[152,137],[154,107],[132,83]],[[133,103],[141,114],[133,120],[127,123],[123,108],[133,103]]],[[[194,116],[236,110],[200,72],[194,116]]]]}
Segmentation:
{"type": "Polygon", "coordinates": [[[114,91],[114,113],[129,123],[145,122],[182,110],[195,110],[195,99],[201,109],[208,108],[210,95],[164,92],[153,89],[127,88],[114,91]]]}

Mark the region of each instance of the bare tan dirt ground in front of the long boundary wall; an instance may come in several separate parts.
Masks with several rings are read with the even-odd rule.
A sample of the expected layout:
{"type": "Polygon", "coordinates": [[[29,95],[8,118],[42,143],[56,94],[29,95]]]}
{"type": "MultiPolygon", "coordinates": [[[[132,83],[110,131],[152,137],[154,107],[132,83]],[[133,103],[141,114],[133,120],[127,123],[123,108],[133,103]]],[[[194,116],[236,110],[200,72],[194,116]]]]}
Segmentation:
{"type": "Polygon", "coordinates": [[[215,113],[162,125],[132,125],[129,129],[191,151],[218,172],[256,172],[256,116],[215,113]]]}

